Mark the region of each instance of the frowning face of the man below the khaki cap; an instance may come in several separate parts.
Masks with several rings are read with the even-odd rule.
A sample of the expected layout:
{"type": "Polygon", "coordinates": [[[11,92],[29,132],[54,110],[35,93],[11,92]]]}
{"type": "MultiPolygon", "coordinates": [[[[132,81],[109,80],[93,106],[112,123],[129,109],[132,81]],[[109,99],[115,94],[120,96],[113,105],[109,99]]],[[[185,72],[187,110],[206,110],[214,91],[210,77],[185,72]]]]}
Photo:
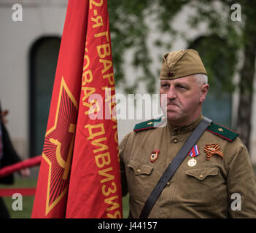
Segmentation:
{"type": "Polygon", "coordinates": [[[201,113],[209,84],[201,87],[193,76],[160,80],[160,95],[167,96],[167,119],[171,125],[183,126],[193,122],[201,113]]]}

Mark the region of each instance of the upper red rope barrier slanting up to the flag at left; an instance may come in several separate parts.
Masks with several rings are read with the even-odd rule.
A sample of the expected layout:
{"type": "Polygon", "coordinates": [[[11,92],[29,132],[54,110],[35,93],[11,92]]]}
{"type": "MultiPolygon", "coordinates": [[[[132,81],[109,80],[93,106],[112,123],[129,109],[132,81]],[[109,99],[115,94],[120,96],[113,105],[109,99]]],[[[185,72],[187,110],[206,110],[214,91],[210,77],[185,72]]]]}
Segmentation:
{"type": "Polygon", "coordinates": [[[33,157],[31,159],[26,159],[22,162],[17,162],[14,165],[9,165],[7,167],[3,167],[0,169],[0,178],[10,175],[12,173],[17,172],[18,170],[21,170],[26,167],[34,167],[36,165],[39,165],[41,162],[42,156],[38,155],[36,157],[33,157]]]}

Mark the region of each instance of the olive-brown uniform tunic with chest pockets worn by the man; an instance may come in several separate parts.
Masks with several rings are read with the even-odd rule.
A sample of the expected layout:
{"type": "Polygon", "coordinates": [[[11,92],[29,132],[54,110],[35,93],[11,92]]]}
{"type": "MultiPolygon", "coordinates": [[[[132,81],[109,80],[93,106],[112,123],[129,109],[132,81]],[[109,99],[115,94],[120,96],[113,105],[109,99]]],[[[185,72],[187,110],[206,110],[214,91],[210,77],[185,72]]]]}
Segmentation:
{"type": "MultiPolygon", "coordinates": [[[[131,218],[139,218],[152,189],[202,117],[185,127],[167,124],[131,132],[123,138],[120,167],[123,196],[130,194],[131,218]],[[160,152],[151,162],[154,149],[160,152]]],[[[256,179],[247,148],[239,138],[227,139],[206,130],[196,143],[200,152],[195,157],[196,165],[187,164],[191,157],[184,159],[148,218],[256,218],[256,179]],[[220,146],[223,158],[213,155],[206,159],[204,148],[212,143],[220,146]]]]}

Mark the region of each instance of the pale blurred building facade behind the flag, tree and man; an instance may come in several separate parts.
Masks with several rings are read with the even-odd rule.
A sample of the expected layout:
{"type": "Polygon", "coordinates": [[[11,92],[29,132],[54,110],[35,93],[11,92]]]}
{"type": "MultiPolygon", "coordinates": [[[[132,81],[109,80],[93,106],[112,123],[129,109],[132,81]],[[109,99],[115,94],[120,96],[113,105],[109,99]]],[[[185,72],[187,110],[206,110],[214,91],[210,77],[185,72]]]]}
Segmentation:
{"type": "MultiPolygon", "coordinates": [[[[0,100],[2,108],[9,109],[7,127],[23,158],[42,151],[66,6],[67,0],[0,0],[0,100]],[[22,21],[13,18],[18,10],[15,4],[22,6],[22,21]]],[[[186,28],[184,15],[181,12],[176,20],[179,26],[186,28]]],[[[204,28],[187,33],[196,46],[200,46],[200,39],[205,36],[204,28]]],[[[152,31],[149,43],[154,36],[158,35],[152,31]]],[[[172,50],[188,46],[185,40],[179,39],[173,44],[172,50]]],[[[163,54],[166,51],[158,49],[159,52],[163,54]]],[[[155,58],[152,68],[159,69],[160,63],[155,58]]],[[[135,71],[127,65],[125,72],[132,77],[135,71]]],[[[116,92],[124,93],[122,88],[117,88],[116,92]]],[[[143,85],[139,92],[145,92],[143,85]]],[[[217,95],[214,92],[209,95],[208,102],[203,106],[203,114],[222,125],[232,127],[236,121],[238,94],[222,95],[221,98],[217,98],[217,95]]],[[[255,97],[256,94],[254,100],[255,97]]],[[[252,163],[256,165],[256,122],[253,119],[256,119],[255,101],[250,154],[252,163]]],[[[120,119],[117,122],[119,141],[140,121],[120,119]]]]}

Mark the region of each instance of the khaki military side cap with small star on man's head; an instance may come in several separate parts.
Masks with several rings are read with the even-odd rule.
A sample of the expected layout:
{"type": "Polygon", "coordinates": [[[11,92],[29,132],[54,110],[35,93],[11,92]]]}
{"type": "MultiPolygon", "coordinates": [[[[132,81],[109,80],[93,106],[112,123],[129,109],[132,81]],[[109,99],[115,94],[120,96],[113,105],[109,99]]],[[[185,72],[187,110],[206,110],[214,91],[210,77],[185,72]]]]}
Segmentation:
{"type": "Polygon", "coordinates": [[[197,51],[179,50],[163,55],[160,79],[178,79],[193,74],[207,75],[197,51]]]}

